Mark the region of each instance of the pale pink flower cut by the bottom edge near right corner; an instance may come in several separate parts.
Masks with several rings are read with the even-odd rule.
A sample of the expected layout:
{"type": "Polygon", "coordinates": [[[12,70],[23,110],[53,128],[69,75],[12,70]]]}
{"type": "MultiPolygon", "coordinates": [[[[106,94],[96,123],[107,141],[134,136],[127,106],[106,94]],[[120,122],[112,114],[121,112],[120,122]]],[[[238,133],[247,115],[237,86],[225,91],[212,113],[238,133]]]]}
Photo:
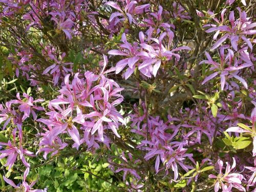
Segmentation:
{"type": "Polygon", "coordinates": [[[220,188],[222,188],[222,191],[231,192],[232,187],[237,188],[239,191],[245,191],[245,188],[241,185],[242,180],[245,179],[244,176],[238,173],[230,173],[236,167],[236,160],[233,158],[231,167],[228,162],[226,162],[227,166],[225,174],[222,173],[223,161],[219,159],[218,164],[220,169],[219,175],[209,175],[209,178],[215,179],[215,192],[219,191],[220,188]]]}

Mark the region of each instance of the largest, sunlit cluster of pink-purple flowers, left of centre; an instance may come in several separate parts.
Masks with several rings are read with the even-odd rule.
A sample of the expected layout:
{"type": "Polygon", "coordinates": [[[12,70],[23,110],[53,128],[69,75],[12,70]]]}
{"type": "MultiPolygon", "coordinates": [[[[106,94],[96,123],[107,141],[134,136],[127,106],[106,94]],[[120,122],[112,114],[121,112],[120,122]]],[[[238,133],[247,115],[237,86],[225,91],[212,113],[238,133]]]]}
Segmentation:
{"type": "Polygon", "coordinates": [[[86,72],[85,78],[80,78],[79,73],[75,74],[70,84],[69,76],[65,77],[65,86],[59,90],[61,95],[49,102],[51,111],[46,113],[49,119],[37,120],[48,125],[48,130],[45,129],[46,133],[40,141],[39,150],[44,151],[45,158],[48,153],[55,155],[66,146],[66,143],[59,140],[60,134],[68,133],[75,142],[73,147],[77,149],[82,143],[97,148],[95,140],[105,144],[109,142],[104,136],[104,130],[110,129],[120,137],[117,133],[119,122],[125,124],[123,117],[115,109],[123,100],[119,94],[123,89],[115,81],[105,78],[102,74],[86,72]],[[96,131],[99,137],[89,135],[94,135],[96,131]]]}

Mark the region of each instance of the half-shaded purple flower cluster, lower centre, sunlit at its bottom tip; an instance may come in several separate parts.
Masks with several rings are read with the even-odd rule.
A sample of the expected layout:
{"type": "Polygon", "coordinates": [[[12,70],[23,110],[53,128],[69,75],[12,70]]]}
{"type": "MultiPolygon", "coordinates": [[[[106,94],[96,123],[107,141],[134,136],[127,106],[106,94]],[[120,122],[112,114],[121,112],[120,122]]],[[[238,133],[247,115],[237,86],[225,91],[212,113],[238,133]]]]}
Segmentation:
{"type": "Polygon", "coordinates": [[[188,158],[194,162],[191,158],[193,155],[186,154],[187,149],[183,148],[183,144],[185,144],[185,142],[172,141],[179,131],[177,127],[173,134],[170,134],[166,133],[166,131],[170,129],[170,126],[167,125],[168,122],[163,123],[159,117],[150,117],[147,121],[148,123],[143,124],[141,130],[132,130],[133,132],[145,137],[145,139],[147,138],[146,133],[148,133],[151,138],[151,140],[142,140],[141,144],[139,144],[137,148],[142,148],[148,151],[144,156],[146,161],[153,157],[156,158],[156,173],[160,172],[160,170],[163,170],[164,168],[166,169],[166,172],[168,172],[169,169],[172,169],[174,172],[174,180],[177,180],[178,165],[187,172],[188,169],[193,167],[186,165],[184,161],[188,158]],[[146,129],[146,126],[148,126],[148,129],[146,129]],[[160,167],[161,162],[164,167],[160,167]]]}

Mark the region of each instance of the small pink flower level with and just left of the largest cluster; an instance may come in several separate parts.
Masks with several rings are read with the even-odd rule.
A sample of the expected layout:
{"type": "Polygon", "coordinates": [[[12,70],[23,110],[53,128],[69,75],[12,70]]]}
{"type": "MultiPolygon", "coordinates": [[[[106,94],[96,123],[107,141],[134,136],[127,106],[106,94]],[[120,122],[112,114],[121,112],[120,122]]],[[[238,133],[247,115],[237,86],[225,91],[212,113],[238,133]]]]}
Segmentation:
{"type": "Polygon", "coordinates": [[[34,103],[44,101],[44,99],[36,99],[34,100],[33,97],[27,95],[26,93],[23,93],[24,99],[20,99],[19,93],[17,93],[16,97],[17,99],[11,100],[10,103],[13,104],[19,104],[18,109],[20,112],[24,112],[24,115],[22,117],[22,120],[24,121],[27,119],[32,113],[34,120],[36,120],[36,113],[34,110],[43,111],[44,108],[41,106],[36,106],[34,103]]]}

